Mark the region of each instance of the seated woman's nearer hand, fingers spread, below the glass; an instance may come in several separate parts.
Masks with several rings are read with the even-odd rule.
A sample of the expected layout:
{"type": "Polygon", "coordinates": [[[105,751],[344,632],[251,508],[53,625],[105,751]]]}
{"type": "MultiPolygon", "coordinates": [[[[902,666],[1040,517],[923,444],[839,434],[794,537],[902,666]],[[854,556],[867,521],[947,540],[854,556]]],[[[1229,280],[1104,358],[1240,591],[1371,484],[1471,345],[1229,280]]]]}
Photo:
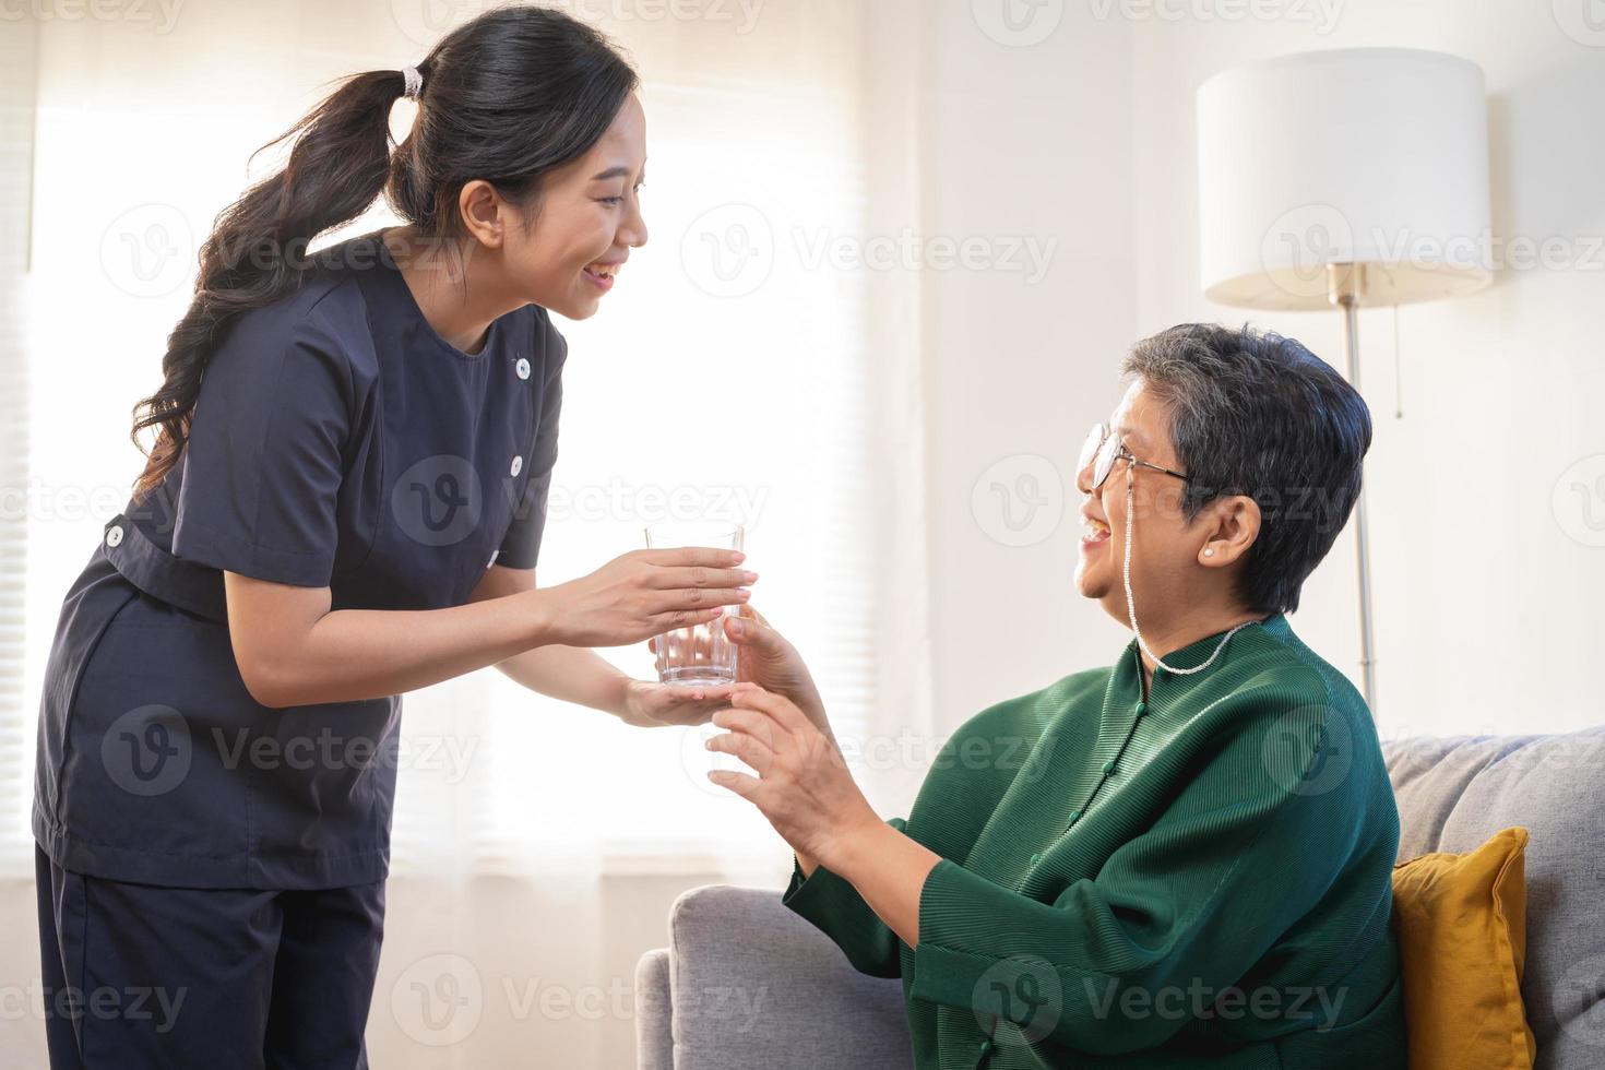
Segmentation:
{"type": "Polygon", "coordinates": [[[714,768],[708,780],[762,810],[798,855],[835,869],[844,844],[881,825],[841,751],[791,699],[737,683],[713,723],[729,732],[708,740],[708,749],[733,754],[758,776],[714,768]]]}

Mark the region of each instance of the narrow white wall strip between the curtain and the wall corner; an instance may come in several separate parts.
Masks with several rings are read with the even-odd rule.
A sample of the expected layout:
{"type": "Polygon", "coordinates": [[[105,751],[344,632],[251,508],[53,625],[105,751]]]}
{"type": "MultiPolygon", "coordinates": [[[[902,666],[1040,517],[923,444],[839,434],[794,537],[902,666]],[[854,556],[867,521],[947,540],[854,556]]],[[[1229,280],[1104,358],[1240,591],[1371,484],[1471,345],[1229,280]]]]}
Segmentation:
{"type": "Polygon", "coordinates": [[[924,75],[924,228],[995,253],[992,270],[928,271],[923,290],[939,733],[1127,642],[1072,574],[1075,452],[1114,407],[1136,330],[1132,27],[1066,5],[1045,40],[1010,45],[982,27],[985,8],[933,5],[924,75]],[[1051,252],[1040,279],[1011,237],[1051,252]],[[1043,502],[1027,513],[1026,499],[1043,502]]]}

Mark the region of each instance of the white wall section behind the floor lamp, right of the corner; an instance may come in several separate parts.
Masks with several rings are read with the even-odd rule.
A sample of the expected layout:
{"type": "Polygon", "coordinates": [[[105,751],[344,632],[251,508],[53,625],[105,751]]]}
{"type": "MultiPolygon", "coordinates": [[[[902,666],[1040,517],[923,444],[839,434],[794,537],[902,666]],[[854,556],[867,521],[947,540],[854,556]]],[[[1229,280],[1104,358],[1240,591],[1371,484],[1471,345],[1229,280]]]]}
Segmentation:
{"type": "MultiPolygon", "coordinates": [[[[1605,638],[1605,549],[1584,499],[1552,492],[1578,460],[1605,472],[1605,40],[1566,3],[1350,0],[1329,34],[1289,19],[1135,26],[1138,330],[1254,322],[1342,367],[1335,313],[1247,313],[1199,294],[1194,91],[1217,71],[1311,48],[1398,45],[1465,56],[1488,79],[1496,237],[1563,239],[1563,270],[1518,255],[1469,298],[1361,314],[1375,440],[1366,488],[1387,735],[1554,732],[1597,723],[1586,677],[1605,638]]],[[[1575,5],[1579,11],[1583,0],[1575,5]]],[[[1363,151],[1363,146],[1356,146],[1363,151]]],[[[1605,483],[1589,488],[1605,542],[1605,483]]],[[[1305,587],[1294,627],[1358,679],[1353,541],[1305,587]]]]}

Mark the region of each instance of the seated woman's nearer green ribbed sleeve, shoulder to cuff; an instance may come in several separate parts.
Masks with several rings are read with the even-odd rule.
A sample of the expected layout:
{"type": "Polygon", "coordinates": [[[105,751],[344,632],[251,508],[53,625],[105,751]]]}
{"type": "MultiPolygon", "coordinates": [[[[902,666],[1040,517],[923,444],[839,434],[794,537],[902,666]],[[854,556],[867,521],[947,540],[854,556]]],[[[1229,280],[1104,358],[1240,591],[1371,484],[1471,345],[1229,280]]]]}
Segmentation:
{"type": "MultiPolygon", "coordinates": [[[[1193,1017],[1193,993],[1213,1001],[1237,985],[1340,882],[1375,898],[1385,926],[1392,847],[1377,863],[1367,807],[1392,796],[1351,720],[1279,699],[1233,711],[1164,813],[1053,902],[944,858],[921,887],[910,998],[1083,1052],[1143,1051],[1193,1017]],[[1323,743],[1334,728],[1351,741],[1342,770],[1323,743]]],[[[1375,938],[1375,916],[1345,935],[1375,938]]]]}

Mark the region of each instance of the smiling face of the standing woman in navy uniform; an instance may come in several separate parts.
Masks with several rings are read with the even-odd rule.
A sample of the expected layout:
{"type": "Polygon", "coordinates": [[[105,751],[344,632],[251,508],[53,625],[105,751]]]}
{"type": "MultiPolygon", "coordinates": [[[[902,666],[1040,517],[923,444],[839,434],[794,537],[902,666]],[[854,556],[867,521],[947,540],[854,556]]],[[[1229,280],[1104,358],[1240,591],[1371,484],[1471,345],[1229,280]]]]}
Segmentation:
{"type": "Polygon", "coordinates": [[[528,226],[509,228],[510,286],[568,319],[594,316],[631,249],[647,242],[647,114],[634,93],[584,156],[547,172],[528,226]]]}

